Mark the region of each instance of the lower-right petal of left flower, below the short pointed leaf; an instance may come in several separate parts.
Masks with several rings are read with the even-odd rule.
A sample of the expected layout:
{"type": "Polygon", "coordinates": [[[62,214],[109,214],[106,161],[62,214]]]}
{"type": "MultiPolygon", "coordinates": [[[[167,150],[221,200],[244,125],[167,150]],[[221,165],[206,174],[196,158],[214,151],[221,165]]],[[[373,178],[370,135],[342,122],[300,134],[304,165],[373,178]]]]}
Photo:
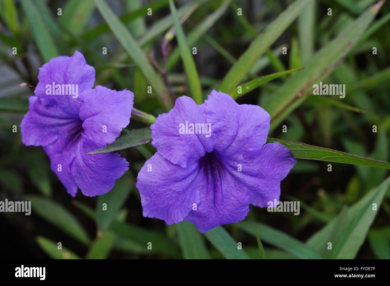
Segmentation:
{"type": "Polygon", "coordinates": [[[97,149],[97,144],[82,133],[70,164],[71,174],[81,192],[89,197],[103,195],[110,191],[115,180],[127,170],[129,163],[118,153],[87,155],[97,149]]]}

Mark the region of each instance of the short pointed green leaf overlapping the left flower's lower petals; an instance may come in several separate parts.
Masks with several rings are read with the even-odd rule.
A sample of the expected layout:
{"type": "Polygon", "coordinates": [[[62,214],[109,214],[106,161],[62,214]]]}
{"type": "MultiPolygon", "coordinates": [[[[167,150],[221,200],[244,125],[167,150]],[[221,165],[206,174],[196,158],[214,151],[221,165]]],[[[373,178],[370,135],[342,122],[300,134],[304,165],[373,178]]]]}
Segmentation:
{"type": "Polygon", "coordinates": [[[145,145],[152,141],[151,134],[152,131],[149,127],[134,129],[129,131],[128,134],[118,137],[117,140],[111,144],[108,144],[106,147],[97,149],[87,154],[116,152],[130,147],[145,145]]]}

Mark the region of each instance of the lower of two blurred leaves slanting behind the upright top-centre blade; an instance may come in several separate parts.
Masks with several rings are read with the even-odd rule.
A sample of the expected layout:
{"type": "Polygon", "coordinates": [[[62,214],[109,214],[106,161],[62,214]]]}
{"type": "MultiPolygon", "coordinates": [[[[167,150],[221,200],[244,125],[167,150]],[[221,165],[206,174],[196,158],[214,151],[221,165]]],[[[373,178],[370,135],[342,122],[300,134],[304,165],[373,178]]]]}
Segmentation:
{"type": "MultiPolygon", "coordinates": [[[[206,31],[213,27],[216,21],[221,18],[221,16],[226,12],[226,9],[229,5],[230,0],[224,1],[221,7],[219,7],[216,11],[208,15],[204,20],[202,20],[196,27],[188,34],[187,41],[188,46],[193,46],[197,43],[197,41],[202,37],[206,31]]],[[[167,71],[170,71],[176,62],[180,59],[180,50],[175,49],[170,53],[170,56],[167,59],[167,71]]]]}

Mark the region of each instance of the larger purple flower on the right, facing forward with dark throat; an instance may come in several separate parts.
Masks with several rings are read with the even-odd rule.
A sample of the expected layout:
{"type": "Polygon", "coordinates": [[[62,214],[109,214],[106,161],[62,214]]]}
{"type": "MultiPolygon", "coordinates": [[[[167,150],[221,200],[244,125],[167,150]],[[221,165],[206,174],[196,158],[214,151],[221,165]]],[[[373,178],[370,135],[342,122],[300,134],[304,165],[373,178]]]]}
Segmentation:
{"type": "Polygon", "coordinates": [[[238,105],[222,92],[201,105],[178,98],[151,126],[157,153],[137,178],[144,216],[189,220],[206,232],[243,220],[249,204],[279,200],[280,181],[296,160],[279,143],[264,145],[269,121],[261,107],[238,105]]]}

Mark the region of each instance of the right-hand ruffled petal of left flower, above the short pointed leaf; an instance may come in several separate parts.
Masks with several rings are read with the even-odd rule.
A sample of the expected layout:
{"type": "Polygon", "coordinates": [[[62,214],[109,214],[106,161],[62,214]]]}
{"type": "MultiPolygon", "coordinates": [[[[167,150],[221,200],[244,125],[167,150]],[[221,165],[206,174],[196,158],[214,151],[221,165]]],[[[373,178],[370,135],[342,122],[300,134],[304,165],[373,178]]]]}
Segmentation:
{"type": "Polygon", "coordinates": [[[129,124],[134,94],[131,91],[115,91],[101,85],[84,91],[80,119],[88,139],[106,146],[115,141],[129,124]]]}

